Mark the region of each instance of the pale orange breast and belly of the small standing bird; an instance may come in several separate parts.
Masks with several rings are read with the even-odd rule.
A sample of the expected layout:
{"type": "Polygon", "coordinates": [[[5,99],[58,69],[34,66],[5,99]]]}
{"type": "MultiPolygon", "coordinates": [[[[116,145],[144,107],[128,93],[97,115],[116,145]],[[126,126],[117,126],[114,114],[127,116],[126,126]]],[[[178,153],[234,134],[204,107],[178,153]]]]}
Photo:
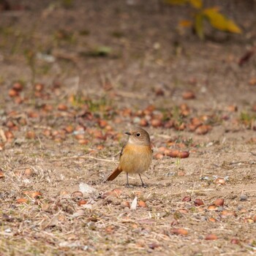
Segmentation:
{"type": "Polygon", "coordinates": [[[127,144],[120,157],[119,167],[127,173],[143,173],[151,164],[151,146],[127,144]]]}

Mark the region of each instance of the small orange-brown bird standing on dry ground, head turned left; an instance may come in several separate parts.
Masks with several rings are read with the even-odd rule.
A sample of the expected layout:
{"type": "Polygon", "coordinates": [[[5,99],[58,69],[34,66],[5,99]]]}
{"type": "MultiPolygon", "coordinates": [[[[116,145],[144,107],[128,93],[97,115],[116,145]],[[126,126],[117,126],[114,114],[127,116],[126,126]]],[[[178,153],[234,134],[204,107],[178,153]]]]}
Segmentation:
{"type": "MultiPolygon", "coordinates": [[[[152,160],[152,149],[148,132],[140,127],[135,127],[129,132],[127,143],[121,149],[119,165],[113,173],[106,178],[106,181],[113,181],[122,171],[127,173],[127,187],[129,187],[129,173],[140,173],[148,170],[152,160]]],[[[140,181],[146,187],[141,176],[140,181]]]]}

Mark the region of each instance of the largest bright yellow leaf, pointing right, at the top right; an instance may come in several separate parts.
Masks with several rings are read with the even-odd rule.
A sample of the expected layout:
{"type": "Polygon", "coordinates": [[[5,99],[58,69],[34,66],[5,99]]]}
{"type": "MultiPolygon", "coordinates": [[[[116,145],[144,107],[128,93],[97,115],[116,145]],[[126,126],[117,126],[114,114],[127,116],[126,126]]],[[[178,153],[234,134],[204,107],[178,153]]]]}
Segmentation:
{"type": "Polygon", "coordinates": [[[236,25],[236,23],[219,13],[219,10],[216,7],[203,10],[203,14],[206,15],[211,26],[215,29],[237,34],[241,33],[241,29],[236,25]]]}

